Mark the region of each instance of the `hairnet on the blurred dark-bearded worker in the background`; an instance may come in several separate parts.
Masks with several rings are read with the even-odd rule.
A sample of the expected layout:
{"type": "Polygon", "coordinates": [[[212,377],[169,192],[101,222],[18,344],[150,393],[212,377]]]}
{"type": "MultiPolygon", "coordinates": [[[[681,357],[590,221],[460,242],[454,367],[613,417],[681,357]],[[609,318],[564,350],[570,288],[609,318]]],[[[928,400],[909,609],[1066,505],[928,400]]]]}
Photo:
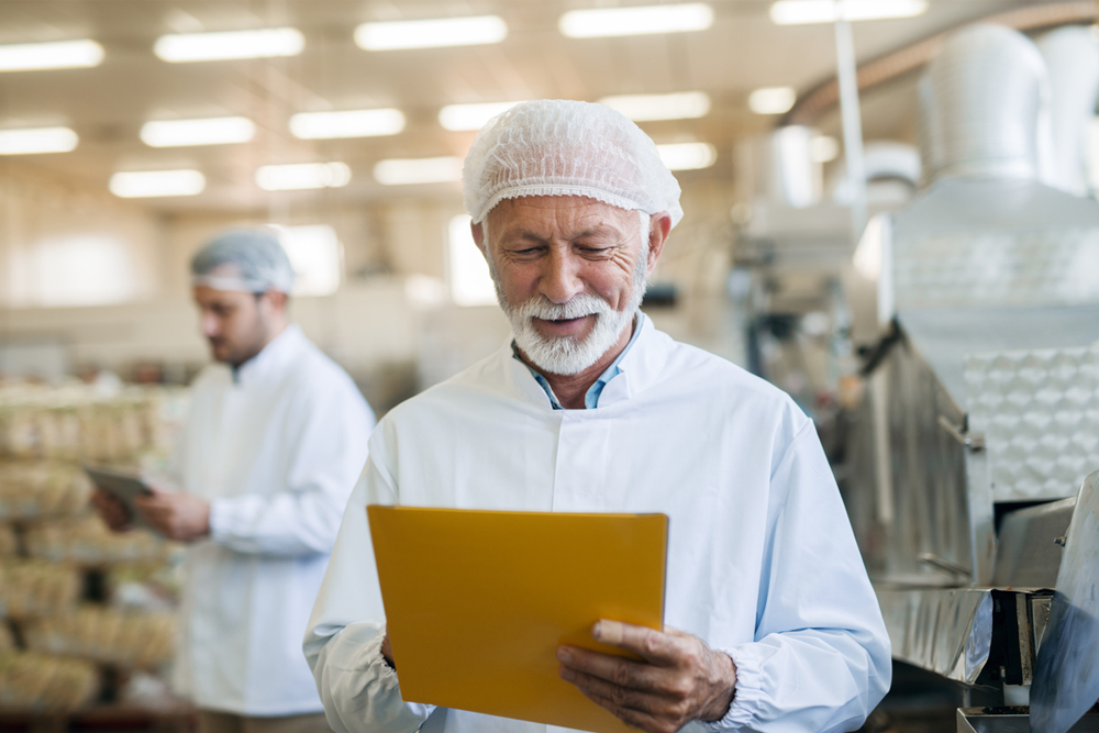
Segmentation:
{"type": "Polygon", "coordinates": [[[211,240],[191,258],[191,285],[214,290],[289,293],[293,287],[290,258],[275,231],[231,229],[211,240]],[[233,265],[235,273],[217,273],[233,265]]]}

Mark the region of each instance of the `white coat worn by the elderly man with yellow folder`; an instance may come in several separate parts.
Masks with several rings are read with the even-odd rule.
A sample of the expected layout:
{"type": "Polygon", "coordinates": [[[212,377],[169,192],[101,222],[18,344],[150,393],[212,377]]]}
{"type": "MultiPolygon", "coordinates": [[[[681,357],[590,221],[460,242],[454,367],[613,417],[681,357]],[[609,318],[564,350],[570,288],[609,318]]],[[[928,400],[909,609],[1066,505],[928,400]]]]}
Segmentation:
{"type": "MultiPolygon", "coordinates": [[[[885,695],[889,641],[812,422],[763,380],[641,327],[593,410],[552,410],[506,346],[378,425],[304,642],[337,733],[553,730],[401,701],[380,655],[370,503],[664,512],[665,623],[737,667],[708,728],[853,730],[885,695]]],[[[446,599],[424,588],[423,602],[446,599]]]]}

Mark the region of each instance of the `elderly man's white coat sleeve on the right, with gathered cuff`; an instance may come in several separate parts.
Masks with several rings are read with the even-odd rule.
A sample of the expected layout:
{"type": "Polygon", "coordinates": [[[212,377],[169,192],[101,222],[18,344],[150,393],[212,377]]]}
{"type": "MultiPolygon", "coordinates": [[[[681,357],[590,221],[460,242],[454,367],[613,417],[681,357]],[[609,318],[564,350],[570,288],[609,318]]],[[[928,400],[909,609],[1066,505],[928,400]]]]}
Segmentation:
{"type": "Polygon", "coordinates": [[[755,641],[711,731],[853,731],[889,689],[889,637],[812,423],[771,477],[755,641]]]}

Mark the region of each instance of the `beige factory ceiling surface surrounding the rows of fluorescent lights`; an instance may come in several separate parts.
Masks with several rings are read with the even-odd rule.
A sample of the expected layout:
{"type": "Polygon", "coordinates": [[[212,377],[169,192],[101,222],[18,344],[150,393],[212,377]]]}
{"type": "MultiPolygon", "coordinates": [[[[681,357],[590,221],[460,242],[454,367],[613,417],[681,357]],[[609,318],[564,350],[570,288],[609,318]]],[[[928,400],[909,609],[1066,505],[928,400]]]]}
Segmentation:
{"type": "MultiPolygon", "coordinates": [[[[454,196],[456,184],[382,186],[373,174],[385,158],[463,156],[473,132],[449,132],[442,107],[535,98],[596,101],[608,95],[706,92],[697,119],[642,122],[657,143],[706,142],[719,164],[686,176],[731,175],[733,143],[775,124],[753,113],[750,93],[765,87],[804,92],[834,73],[829,24],[776,25],[763,0],[710,0],[703,31],[628,37],[568,38],[558,19],[569,10],[636,2],[599,0],[4,0],[0,44],[91,38],[103,48],[93,68],[0,74],[0,131],[67,126],[79,136],[66,153],[0,157],[0,171],[30,171],[106,191],[118,171],[197,169],[197,196],[135,199],[175,212],[258,210],[287,200],[336,203],[387,197],[454,196]],[[365,22],[499,15],[500,43],[476,46],[364,51],[354,40],[365,22]],[[154,54],[165,34],[295,27],[304,40],[295,56],[169,64],[154,54]],[[290,132],[300,112],[395,108],[406,118],[393,135],[301,140],[290,132]],[[152,147],[141,140],[153,120],[244,116],[249,142],[152,147]],[[351,180],[323,191],[270,193],[255,180],[259,166],[340,162],[351,180]],[[310,198],[312,197],[312,198],[310,198]]],[[[861,60],[880,56],[969,20],[1029,4],[1017,0],[931,0],[904,20],[854,26],[861,60]]],[[[914,98],[904,89],[873,92],[865,104],[867,137],[910,137],[914,98]]],[[[825,125],[829,122],[824,121],[825,125]]]]}

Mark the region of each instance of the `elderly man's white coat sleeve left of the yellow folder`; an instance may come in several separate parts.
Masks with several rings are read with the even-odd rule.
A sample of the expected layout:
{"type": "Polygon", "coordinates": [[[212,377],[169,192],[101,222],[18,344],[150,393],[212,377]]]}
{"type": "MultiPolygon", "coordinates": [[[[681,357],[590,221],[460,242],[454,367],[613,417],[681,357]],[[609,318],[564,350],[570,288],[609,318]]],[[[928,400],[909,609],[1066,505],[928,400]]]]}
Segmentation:
{"type": "Polygon", "coordinates": [[[335,733],[413,733],[435,709],[404,702],[397,674],[381,656],[386,614],[366,507],[397,503],[382,471],[371,454],[344,512],[306,632],[306,659],[335,733]]]}

